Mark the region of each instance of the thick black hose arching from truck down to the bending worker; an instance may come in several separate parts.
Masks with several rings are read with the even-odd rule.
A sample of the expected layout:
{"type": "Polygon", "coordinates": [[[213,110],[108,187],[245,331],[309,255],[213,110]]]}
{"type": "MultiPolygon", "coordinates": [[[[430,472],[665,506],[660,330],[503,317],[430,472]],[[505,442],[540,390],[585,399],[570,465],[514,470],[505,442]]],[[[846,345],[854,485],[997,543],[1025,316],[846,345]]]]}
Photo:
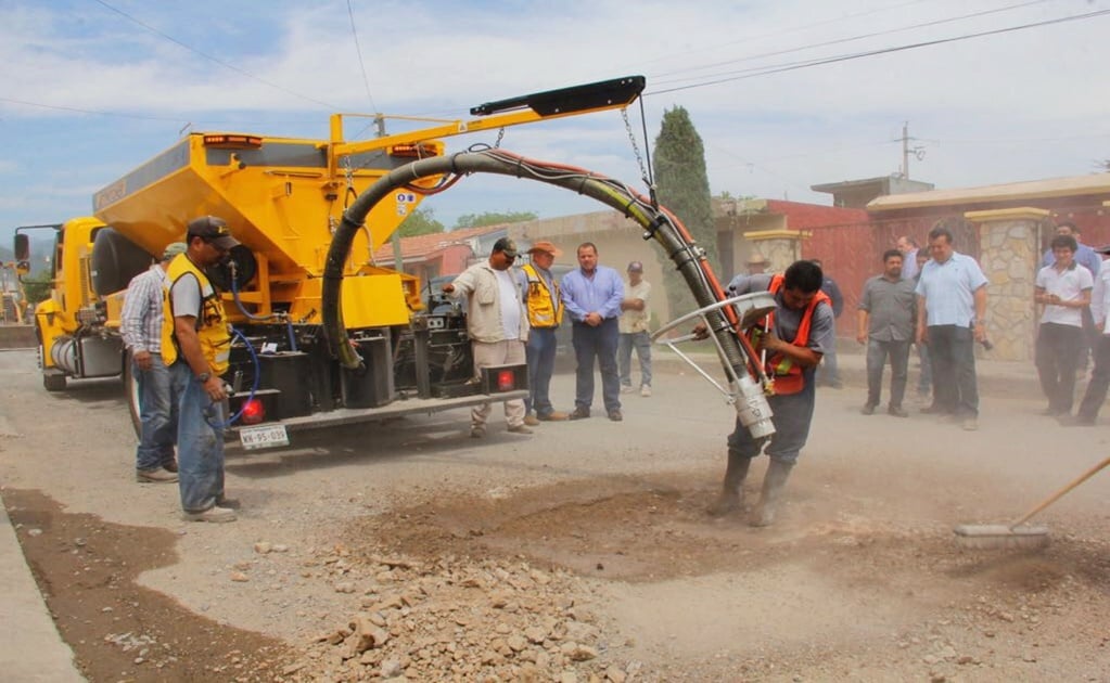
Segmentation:
{"type": "MultiPolygon", "coordinates": [[[[331,247],[324,264],[322,305],[324,332],[332,351],[347,368],[356,368],[362,359],[347,338],[340,306],[344,264],[351,253],[351,244],[370,211],[397,188],[423,192],[417,181],[438,177],[493,173],[519,179],[535,180],[597,200],[622,212],[644,228],[645,239],[654,239],[674,262],[686,281],[698,306],[707,306],[725,298],[724,290],[713,274],[704,249],[697,247],[682,223],[665,208],[655,208],[623,183],[583,169],[527,160],[505,150],[486,149],[417,160],[393,170],[367,187],[343,212],[340,225],[332,236],[331,247]]],[[[451,182],[454,182],[452,180],[451,182]]],[[[726,361],[737,373],[758,377],[755,371],[755,354],[739,329],[739,320],[731,309],[709,314],[709,332],[720,342],[726,361]]]]}

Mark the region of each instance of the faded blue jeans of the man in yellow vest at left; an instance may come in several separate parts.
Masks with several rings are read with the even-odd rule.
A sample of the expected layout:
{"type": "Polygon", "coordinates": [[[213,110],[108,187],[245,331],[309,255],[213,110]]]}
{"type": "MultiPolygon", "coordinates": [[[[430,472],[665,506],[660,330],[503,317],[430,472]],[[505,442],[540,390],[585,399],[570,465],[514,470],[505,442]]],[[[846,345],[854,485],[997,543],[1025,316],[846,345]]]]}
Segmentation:
{"type": "Polygon", "coordinates": [[[170,366],[178,391],[178,487],[185,512],[203,512],[223,500],[222,404],[213,404],[189,364],[170,366]]]}

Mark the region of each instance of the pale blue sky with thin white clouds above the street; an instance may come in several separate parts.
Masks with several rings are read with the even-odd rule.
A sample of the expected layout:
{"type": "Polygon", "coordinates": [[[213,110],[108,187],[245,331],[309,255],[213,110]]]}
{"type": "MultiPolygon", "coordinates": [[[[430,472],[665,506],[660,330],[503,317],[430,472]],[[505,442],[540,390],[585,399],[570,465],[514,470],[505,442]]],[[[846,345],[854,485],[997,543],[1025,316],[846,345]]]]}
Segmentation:
{"type": "MultiPolygon", "coordinates": [[[[324,137],[334,111],[461,119],[626,74],[647,77],[650,139],[667,108],[689,111],[715,193],[827,204],[810,185],[899,170],[904,121],[925,154],[911,177],[938,187],[1090,173],[1110,157],[1110,16],[745,70],[1103,10],[1110,0],[0,0],[0,238],[89,213],[93,192],[188,126],[324,137]]],[[[475,142],[493,136],[448,145],[475,142]]],[[[512,129],[503,146],[643,187],[616,112],[512,129]]],[[[448,226],[602,208],[488,176],[424,206],[448,226]]]]}

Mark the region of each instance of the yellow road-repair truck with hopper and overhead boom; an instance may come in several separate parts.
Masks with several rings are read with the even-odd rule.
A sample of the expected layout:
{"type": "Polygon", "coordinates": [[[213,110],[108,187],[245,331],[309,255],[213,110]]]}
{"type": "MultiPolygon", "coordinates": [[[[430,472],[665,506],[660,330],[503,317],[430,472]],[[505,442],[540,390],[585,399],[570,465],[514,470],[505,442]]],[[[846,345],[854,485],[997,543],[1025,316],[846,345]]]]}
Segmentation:
{"type": "Polygon", "coordinates": [[[183,239],[189,221],[210,214],[242,243],[210,276],[235,329],[224,379],[244,446],[287,444],[291,429],[523,396],[523,368],[474,381],[464,314],[425,310],[418,279],[375,256],[440,188],[442,174],[414,179],[377,203],[347,236],[340,263],[329,263],[333,234],[345,207],[379,179],[443,157],[442,137],[623,108],[643,88],[642,77],[628,77],[535,93],[476,106],[474,119],[354,142],[345,140],[352,115],[344,114],[332,116],[326,140],[190,133],[97,192],[92,216],[17,231],[22,264],[36,231],[54,238],[51,296],[33,320],[43,386],[61,391],[70,379],[122,375],[138,424],[119,335],[124,289],[183,239]],[[342,334],[324,325],[329,276],[343,281],[342,334]]]}

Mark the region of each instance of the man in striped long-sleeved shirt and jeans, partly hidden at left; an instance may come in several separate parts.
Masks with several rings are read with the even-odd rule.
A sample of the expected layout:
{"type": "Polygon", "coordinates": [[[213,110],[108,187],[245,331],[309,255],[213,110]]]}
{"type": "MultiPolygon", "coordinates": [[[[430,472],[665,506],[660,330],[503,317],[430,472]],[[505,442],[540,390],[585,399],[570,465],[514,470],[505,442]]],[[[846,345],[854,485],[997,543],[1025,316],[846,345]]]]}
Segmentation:
{"type": "Polygon", "coordinates": [[[120,334],[131,354],[131,369],[139,389],[142,429],[135,448],[135,480],[141,483],[178,480],[178,463],[173,458],[178,407],[170,371],[162,364],[162,307],[169,286],[165,271],[185,248],[180,242],[171,244],[162,253],[161,263],[131,281],[120,315],[120,334]]]}

